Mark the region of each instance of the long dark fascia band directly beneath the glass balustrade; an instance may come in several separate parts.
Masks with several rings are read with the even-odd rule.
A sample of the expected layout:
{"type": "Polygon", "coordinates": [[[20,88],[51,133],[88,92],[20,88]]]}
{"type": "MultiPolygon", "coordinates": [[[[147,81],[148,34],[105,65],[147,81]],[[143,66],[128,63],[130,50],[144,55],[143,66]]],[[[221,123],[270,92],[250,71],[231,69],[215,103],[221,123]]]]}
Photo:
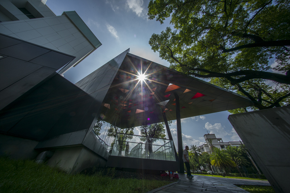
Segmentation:
{"type": "Polygon", "coordinates": [[[107,167],[177,171],[179,162],[109,155],[107,167]]]}

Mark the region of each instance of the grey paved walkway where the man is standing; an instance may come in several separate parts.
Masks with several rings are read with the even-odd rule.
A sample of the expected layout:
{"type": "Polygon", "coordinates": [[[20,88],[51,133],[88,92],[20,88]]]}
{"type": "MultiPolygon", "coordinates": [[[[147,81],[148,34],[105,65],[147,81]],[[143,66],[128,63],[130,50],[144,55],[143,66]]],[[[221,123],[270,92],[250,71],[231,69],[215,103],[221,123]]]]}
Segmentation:
{"type": "Polygon", "coordinates": [[[168,192],[208,192],[208,193],[246,193],[247,191],[236,185],[264,185],[270,186],[268,181],[247,180],[233,178],[219,178],[211,176],[193,175],[194,178],[188,179],[186,174],[178,174],[180,181],[165,185],[163,187],[151,190],[148,193],[168,193],[168,192]]]}

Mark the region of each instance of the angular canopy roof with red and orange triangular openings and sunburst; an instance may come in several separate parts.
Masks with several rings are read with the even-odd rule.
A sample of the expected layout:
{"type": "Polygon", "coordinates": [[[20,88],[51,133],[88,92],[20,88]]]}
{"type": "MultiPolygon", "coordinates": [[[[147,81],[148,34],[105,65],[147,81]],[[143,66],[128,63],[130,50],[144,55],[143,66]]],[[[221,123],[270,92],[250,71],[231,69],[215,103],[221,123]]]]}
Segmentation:
{"type": "Polygon", "coordinates": [[[90,95],[95,90],[106,92],[103,99],[96,97],[111,107],[103,107],[101,118],[119,128],[160,123],[162,113],[175,120],[175,95],[181,118],[253,105],[244,96],[133,55],[129,49],[76,85],[90,95]],[[139,75],[145,76],[144,81],[139,75]]]}

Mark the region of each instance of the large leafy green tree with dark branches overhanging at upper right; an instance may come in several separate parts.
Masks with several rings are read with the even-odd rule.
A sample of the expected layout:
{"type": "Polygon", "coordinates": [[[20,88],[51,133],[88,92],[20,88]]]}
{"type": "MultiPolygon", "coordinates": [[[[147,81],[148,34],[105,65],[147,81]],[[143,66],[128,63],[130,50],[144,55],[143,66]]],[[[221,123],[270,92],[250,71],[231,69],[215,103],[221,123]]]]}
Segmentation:
{"type": "MultiPolygon", "coordinates": [[[[163,23],[171,17],[175,30],[153,34],[149,44],[171,68],[249,97],[252,109],[285,105],[290,102],[289,2],[151,0],[149,19],[163,23]]],[[[246,109],[233,112],[239,111],[246,109]]]]}

